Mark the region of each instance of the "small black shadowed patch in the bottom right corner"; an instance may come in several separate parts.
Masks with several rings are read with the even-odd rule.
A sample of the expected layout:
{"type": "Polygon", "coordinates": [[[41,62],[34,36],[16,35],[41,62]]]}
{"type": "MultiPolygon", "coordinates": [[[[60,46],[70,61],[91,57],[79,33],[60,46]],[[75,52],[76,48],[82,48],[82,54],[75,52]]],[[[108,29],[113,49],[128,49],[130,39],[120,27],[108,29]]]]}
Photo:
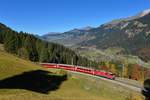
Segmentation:
{"type": "Polygon", "coordinates": [[[142,94],[146,97],[146,100],[150,100],[150,79],[144,81],[144,89],[142,94]]]}

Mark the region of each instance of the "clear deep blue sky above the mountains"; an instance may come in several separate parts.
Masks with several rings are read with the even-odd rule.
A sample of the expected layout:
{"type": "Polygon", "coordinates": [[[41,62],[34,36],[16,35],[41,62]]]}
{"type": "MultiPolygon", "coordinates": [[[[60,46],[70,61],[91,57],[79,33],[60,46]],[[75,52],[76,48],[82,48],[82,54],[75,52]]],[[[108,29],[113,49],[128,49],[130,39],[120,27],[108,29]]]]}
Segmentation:
{"type": "Polygon", "coordinates": [[[0,22],[42,35],[97,27],[149,8],[150,0],[0,0],[0,22]]]}

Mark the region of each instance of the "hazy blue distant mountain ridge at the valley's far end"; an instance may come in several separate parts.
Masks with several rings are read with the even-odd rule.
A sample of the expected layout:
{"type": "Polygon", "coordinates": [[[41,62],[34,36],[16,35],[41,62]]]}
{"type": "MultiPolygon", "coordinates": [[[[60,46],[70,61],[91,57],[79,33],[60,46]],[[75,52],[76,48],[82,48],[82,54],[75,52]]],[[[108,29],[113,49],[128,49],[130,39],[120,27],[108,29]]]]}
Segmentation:
{"type": "Polygon", "coordinates": [[[91,39],[92,37],[87,36],[88,31],[90,31],[91,29],[93,28],[87,26],[80,29],[75,28],[73,30],[64,33],[50,32],[48,34],[41,36],[41,38],[50,42],[63,44],[65,46],[74,46],[85,40],[91,39]]]}

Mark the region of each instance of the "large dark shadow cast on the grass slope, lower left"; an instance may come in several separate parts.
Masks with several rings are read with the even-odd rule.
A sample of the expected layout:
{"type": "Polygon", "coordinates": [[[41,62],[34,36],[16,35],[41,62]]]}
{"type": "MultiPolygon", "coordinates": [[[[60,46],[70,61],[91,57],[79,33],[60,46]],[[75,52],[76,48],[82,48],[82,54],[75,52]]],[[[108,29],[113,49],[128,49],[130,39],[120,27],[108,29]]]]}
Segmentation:
{"type": "Polygon", "coordinates": [[[58,89],[65,80],[67,75],[56,76],[48,71],[36,70],[0,80],[0,89],[25,89],[48,94],[58,89]]]}

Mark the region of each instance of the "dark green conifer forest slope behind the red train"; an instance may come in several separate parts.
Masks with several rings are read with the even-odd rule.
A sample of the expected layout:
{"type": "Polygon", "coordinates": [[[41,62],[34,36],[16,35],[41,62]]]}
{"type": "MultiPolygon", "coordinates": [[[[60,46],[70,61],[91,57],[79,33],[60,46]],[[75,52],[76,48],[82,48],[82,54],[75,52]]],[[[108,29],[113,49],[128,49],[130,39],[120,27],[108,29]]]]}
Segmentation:
{"type": "Polygon", "coordinates": [[[25,32],[16,32],[0,24],[0,43],[7,52],[33,62],[75,64],[82,66],[96,63],[77,55],[62,45],[43,41],[25,32]]]}

